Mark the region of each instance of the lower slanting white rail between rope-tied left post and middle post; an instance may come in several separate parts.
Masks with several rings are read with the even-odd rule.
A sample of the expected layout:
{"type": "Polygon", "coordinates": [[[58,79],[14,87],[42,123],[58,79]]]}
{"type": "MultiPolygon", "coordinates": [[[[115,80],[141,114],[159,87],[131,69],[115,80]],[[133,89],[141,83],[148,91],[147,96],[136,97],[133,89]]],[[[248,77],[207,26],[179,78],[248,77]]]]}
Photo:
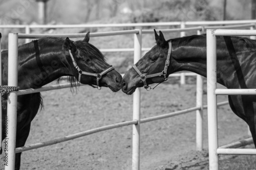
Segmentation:
{"type": "Polygon", "coordinates": [[[49,146],[49,145],[52,145],[52,144],[56,144],[56,143],[76,139],[76,138],[86,136],[86,135],[90,135],[90,134],[97,133],[97,132],[102,132],[102,131],[106,131],[106,130],[110,130],[110,129],[120,128],[120,127],[128,126],[128,125],[136,125],[137,123],[138,123],[138,120],[131,120],[131,121],[122,122],[122,123],[118,123],[118,124],[103,126],[103,127],[91,129],[91,130],[88,130],[88,131],[76,133],[76,134],[73,134],[73,135],[60,137],[60,138],[57,138],[57,139],[54,139],[54,140],[48,140],[48,141],[45,141],[45,142],[35,143],[35,144],[27,145],[25,147],[16,148],[15,153],[20,153],[20,152],[24,152],[24,151],[29,151],[29,150],[33,150],[33,149],[37,149],[37,148],[46,147],[46,146],[49,146]]]}

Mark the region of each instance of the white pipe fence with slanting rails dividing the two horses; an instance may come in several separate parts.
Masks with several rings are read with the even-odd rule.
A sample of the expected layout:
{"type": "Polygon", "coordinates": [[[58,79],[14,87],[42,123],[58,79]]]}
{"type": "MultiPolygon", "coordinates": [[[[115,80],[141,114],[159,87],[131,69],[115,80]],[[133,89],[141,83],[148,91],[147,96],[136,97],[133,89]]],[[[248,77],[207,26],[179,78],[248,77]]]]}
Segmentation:
{"type": "MultiPolygon", "coordinates": [[[[228,26],[225,26],[227,29],[228,26]]],[[[233,26],[230,26],[233,28],[233,26]]],[[[239,26],[239,28],[254,28],[253,25],[243,25],[239,26]]],[[[220,27],[222,28],[222,27],[220,27]]],[[[162,32],[185,32],[185,31],[197,31],[198,34],[201,34],[203,30],[202,27],[194,27],[194,28],[183,28],[183,29],[168,29],[168,30],[161,30],[162,32]]],[[[91,33],[91,37],[97,36],[115,36],[115,35],[123,35],[123,34],[133,34],[134,35],[134,63],[136,63],[141,58],[141,39],[142,34],[150,34],[153,30],[142,30],[142,29],[135,29],[129,31],[115,31],[115,32],[102,32],[102,33],[91,33]]],[[[18,46],[18,38],[41,38],[46,36],[57,36],[57,37],[70,37],[70,38],[77,38],[77,37],[84,37],[86,34],[18,34],[18,33],[9,33],[9,44],[8,44],[8,55],[9,55],[9,62],[8,62],[8,86],[17,86],[17,46],[18,46]]],[[[1,64],[0,64],[1,65],[1,64]]],[[[1,70],[1,69],[0,69],[1,70]]],[[[172,117],[180,114],[185,114],[188,112],[196,111],[197,112],[197,150],[202,150],[202,122],[203,122],[203,109],[206,109],[207,106],[203,106],[202,103],[202,96],[203,96],[203,81],[202,77],[197,75],[197,102],[196,107],[185,109],[178,112],[167,113],[159,116],[148,117],[144,119],[140,119],[140,89],[136,89],[133,95],[133,120],[117,123],[113,125],[108,125],[104,127],[99,127],[96,129],[80,132],[77,134],[57,138],[54,140],[49,140],[45,142],[40,142],[32,145],[27,145],[22,148],[15,148],[15,141],[16,141],[16,105],[17,105],[17,96],[22,94],[28,94],[33,92],[39,91],[48,91],[60,88],[67,88],[70,87],[70,84],[60,84],[54,86],[45,86],[38,89],[26,89],[26,90],[19,90],[10,92],[8,95],[8,106],[7,106],[7,116],[8,116],[8,130],[9,130],[9,143],[8,143],[8,161],[9,165],[5,166],[5,169],[14,169],[14,162],[15,162],[15,153],[24,152],[36,148],[45,147],[47,145],[75,139],[78,137],[86,136],[89,134],[93,134],[96,132],[101,132],[109,129],[119,128],[127,125],[133,126],[133,154],[132,154],[132,168],[133,170],[139,169],[139,152],[140,152],[140,124],[151,122],[153,120],[163,119],[167,117],[172,117]]],[[[226,105],[228,102],[222,102],[217,104],[217,106],[226,105]]],[[[250,142],[250,140],[249,140],[250,142]]],[[[247,142],[248,143],[248,142],[247,142]]]]}

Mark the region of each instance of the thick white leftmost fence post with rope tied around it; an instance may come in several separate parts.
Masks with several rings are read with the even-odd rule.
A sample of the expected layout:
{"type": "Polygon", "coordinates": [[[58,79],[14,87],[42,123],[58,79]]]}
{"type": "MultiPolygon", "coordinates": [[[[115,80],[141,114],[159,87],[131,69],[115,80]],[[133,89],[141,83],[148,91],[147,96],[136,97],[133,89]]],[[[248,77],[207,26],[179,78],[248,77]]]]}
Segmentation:
{"type": "MultiPolygon", "coordinates": [[[[17,86],[17,59],[18,59],[18,33],[9,33],[8,39],[8,86],[17,86]]],[[[17,120],[17,94],[12,91],[8,94],[7,103],[8,118],[8,166],[5,169],[15,168],[15,147],[16,147],[16,120],[17,120]]]]}

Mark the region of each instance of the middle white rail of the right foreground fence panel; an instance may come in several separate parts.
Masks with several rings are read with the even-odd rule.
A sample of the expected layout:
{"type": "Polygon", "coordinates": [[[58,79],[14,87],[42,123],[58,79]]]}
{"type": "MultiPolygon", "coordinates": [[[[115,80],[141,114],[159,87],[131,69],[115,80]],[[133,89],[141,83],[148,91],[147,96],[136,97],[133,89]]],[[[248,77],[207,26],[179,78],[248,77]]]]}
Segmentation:
{"type": "Polygon", "coordinates": [[[256,95],[256,89],[216,89],[217,95],[256,95]]]}

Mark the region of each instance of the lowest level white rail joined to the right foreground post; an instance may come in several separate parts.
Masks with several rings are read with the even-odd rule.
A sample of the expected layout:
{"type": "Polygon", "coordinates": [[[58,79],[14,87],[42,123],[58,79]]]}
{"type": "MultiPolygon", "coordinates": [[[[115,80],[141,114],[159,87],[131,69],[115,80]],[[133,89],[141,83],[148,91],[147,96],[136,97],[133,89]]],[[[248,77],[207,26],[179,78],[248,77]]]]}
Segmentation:
{"type": "Polygon", "coordinates": [[[224,149],[218,148],[217,154],[219,155],[256,155],[256,149],[224,149]]]}

